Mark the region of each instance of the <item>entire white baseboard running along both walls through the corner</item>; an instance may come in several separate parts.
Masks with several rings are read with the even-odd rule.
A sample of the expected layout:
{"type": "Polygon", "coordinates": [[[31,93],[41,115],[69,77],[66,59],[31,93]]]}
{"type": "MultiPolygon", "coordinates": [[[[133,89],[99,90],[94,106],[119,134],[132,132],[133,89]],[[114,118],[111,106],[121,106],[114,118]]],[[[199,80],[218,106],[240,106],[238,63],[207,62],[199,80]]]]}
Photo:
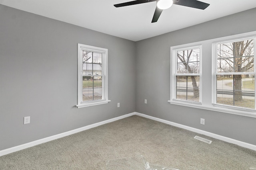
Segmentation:
{"type": "Polygon", "coordinates": [[[210,132],[207,132],[207,131],[202,131],[200,129],[196,129],[196,128],[193,128],[193,127],[181,125],[181,124],[174,123],[174,122],[171,122],[171,121],[167,121],[167,120],[164,120],[164,119],[159,119],[159,118],[152,117],[152,116],[149,116],[149,115],[144,115],[142,113],[133,112],[133,113],[122,115],[122,116],[115,117],[115,118],[112,118],[112,119],[108,119],[106,121],[101,121],[101,122],[98,122],[98,123],[94,123],[92,125],[88,125],[88,126],[85,126],[85,127],[74,129],[72,131],[67,131],[67,132],[64,132],[64,133],[60,133],[60,134],[57,134],[57,135],[53,135],[53,136],[50,136],[50,137],[46,137],[46,138],[43,138],[43,139],[32,141],[30,143],[25,143],[23,145],[18,145],[16,147],[0,150],[0,156],[3,156],[5,154],[9,154],[9,153],[12,153],[12,152],[16,152],[18,150],[33,147],[35,145],[39,145],[39,144],[42,144],[42,143],[46,143],[46,142],[49,142],[49,141],[52,141],[52,140],[55,140],[55,139],[59,139],[59,138],[62,138],[62,137],[68,136],[68,135],[72,135],[74,133],[85,131],[87,129],[91,129],[93,127],[97,127],[97,126],[100,126],[100,125],[104,125],[106,123],[117,121],[119,119],[124,119],[124,118],[130,117],[132,115],[138,115],[138,116],[141,116],[141,117],[145,117],[145,118],[148,118],[148,119],[152,119],[152,120],[155,120],[155,121],[166,123],[168,125],[180,127],[182,129],[186,129],[186,130],[193,131],[193,132],[196,132],[196,133],[200,133],[200,134],[203,134],[203,135],[206,135],[206,136],[209,136],[209,137],[213,137],[215,139],[219,139],[219,140],[222,140],[222,141],[225,141],[225,142],[228,142],[228,143],[233,143],[233,144],[239,145],[241,147],[256,150],[256,145],[252,145],[252,144],[249,144],[249,143],[245,143],[245,142],[238,141],[238,140],[235,140],[235,139],[231,139],[231,138],[228,138],[228,137],[224,137],[224,136],[221,136],[221,135],[216,135],[214,133],[210,133],[210,132]]]}

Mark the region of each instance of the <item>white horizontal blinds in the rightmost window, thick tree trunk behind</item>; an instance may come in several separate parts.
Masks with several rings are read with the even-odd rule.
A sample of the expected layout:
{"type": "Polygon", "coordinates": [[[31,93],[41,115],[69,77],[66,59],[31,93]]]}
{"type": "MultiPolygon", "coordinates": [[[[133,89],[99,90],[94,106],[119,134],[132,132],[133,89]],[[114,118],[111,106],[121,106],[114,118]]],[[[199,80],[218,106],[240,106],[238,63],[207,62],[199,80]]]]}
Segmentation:
{"type": "Polygon", "coordinates": [[[215,45],[216,104],[255,109],[254,38],[215,45]]]}

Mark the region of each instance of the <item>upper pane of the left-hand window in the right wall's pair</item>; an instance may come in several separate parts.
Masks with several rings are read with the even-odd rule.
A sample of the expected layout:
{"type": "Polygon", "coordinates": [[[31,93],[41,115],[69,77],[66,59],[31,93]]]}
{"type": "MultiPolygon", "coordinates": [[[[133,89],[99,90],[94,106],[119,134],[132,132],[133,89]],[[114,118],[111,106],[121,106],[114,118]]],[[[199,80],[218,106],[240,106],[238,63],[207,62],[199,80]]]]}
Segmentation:
{"type": "Polygon", "coordinates": [[[178,51],[177,73],[200,73],[200,49],[178,51]]]}

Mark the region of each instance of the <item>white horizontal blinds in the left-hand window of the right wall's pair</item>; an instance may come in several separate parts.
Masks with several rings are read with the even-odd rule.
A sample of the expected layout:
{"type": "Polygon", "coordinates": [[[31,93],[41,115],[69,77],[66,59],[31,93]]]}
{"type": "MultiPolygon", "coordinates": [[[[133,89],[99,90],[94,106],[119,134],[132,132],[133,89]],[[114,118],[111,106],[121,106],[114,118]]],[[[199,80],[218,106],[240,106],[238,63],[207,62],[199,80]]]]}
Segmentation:
{"type": "Polygon", "coordinates": [[[175,50],[175,99],[200,102],[200,48],[175,50]]]}

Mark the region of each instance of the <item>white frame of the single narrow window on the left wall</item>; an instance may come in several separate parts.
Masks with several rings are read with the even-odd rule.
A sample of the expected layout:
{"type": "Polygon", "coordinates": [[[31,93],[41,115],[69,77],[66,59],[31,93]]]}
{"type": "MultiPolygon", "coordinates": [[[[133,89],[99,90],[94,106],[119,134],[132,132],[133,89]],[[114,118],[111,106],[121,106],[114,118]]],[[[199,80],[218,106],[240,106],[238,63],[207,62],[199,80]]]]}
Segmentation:
{"type": "MultiPolygon", "coordinates": [[[[94,76],[94,75],[91,75],[91,76],[94,76]]],[[[110,102],[110,100],[108,100],[108,49],[78,43],[78,90],[77,91],[78,91],[78,95],[77,95],[78,104],[76,105],[77,108],[107,104],[108,102],[110,102]],[[83,83],[82,82],[82,76],[83,76],[82,51],[84,50],[102,53],[102,72],[104,72],[104,74],[102,75],[102,86],[104,86],[102,90],[102,98],[103,98],[102,100],[92,100],[88,102],[82,101],[82,83],[83,83]]]]}

